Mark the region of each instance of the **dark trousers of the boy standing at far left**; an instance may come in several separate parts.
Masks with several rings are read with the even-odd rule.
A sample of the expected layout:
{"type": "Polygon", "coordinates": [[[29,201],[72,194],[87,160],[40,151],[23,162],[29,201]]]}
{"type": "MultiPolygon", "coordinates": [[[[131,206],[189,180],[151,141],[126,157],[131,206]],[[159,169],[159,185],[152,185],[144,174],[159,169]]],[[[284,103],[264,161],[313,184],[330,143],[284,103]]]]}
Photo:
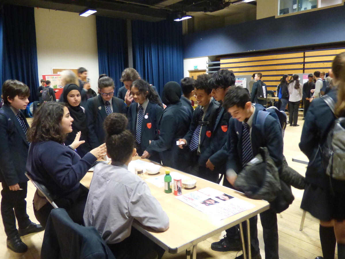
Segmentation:
{"type": "Polygon", "coordinates": [[[26,194],[28,191],[28,183],[19,183],[19,187],[23,190],[11,191],[6,183],[1,183],[1,217],[5,233],[8,239],[18,235],[16,227],[16,218],[18,227],[24,229],[31,223],[26,213],[26,194]]]}

